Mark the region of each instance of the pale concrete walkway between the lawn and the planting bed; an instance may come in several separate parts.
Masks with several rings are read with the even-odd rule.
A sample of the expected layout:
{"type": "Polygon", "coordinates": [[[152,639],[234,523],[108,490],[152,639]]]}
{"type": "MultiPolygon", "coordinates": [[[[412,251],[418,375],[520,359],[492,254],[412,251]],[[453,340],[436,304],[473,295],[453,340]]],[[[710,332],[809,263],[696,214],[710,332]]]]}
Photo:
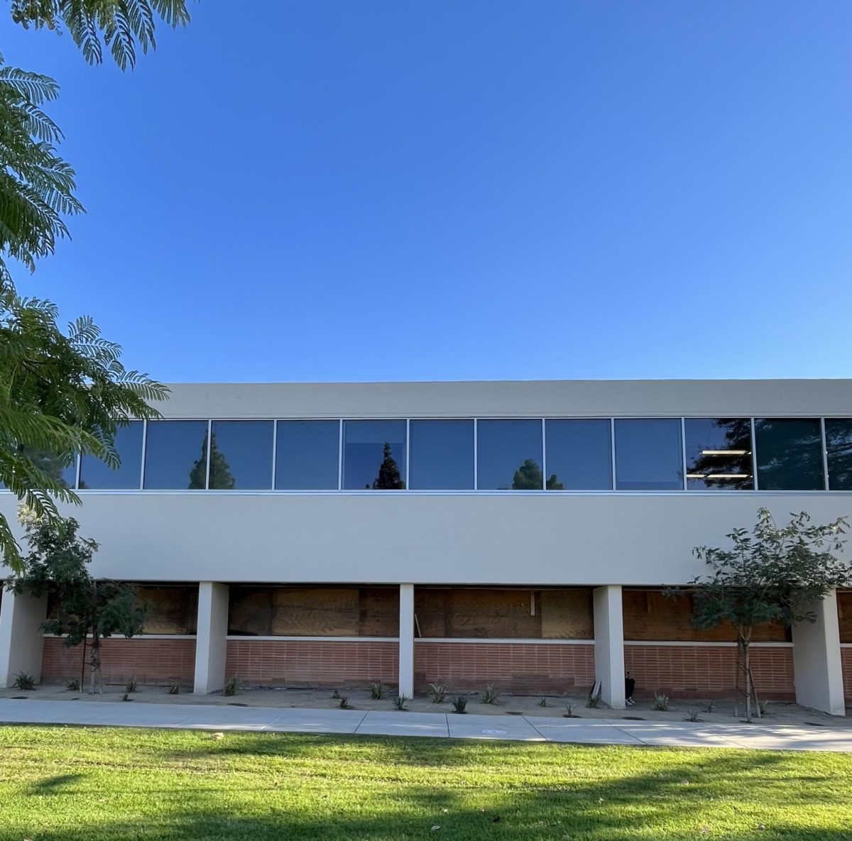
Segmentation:
{"type": "MultiPolygon", "coordinates": [[[[573,742],[583,745],[748,747],[852,752],[852,728],[791,724],[691,724],[622,718],[363,712],[210,704],[0,700],[0,723],[439,736],[451,739],[573,742]]],[[[2,731],[0,731],[2,738],[2,731]]]]}

